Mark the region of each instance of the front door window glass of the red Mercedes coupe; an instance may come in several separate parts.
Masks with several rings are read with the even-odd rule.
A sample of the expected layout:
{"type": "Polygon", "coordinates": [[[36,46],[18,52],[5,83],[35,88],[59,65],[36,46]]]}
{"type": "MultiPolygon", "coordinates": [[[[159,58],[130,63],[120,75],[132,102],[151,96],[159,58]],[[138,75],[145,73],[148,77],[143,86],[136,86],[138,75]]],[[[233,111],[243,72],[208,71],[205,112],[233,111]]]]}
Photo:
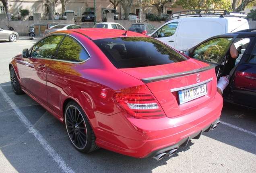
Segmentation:
{"type": "Polygon", "coordinates": [[[63,38],[64,36],[62,35],[46,37],[33,47],[31,56],[41,58],[54,58],[57,48],[59,47],[63,38]]]}

